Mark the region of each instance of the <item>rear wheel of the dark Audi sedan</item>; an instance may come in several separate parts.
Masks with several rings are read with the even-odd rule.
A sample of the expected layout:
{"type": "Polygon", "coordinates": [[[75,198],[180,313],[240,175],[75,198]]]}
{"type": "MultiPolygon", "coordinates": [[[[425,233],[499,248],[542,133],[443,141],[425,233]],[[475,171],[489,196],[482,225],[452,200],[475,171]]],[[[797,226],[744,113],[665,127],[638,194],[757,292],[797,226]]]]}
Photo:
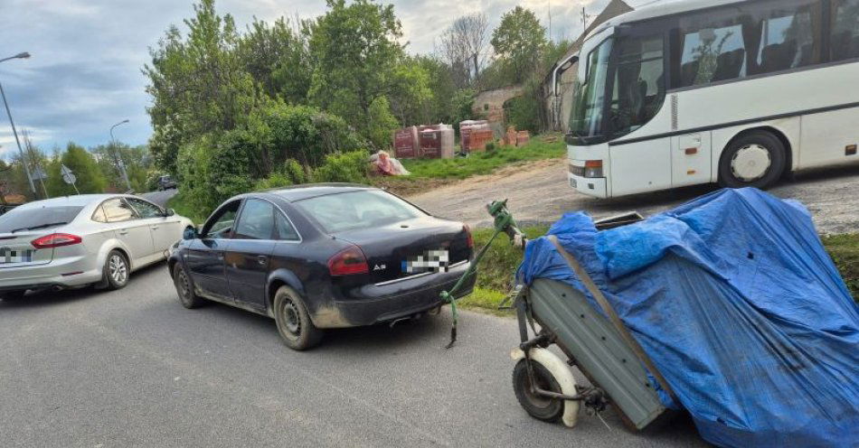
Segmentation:
{"type": "Polygon", "coordinates": [[[274,317],[280,338],[292,350],[307,350],[322,341],[322,331],[310,321],[301,296],[289,286],[280,286],[274,296],[274,317]]]}

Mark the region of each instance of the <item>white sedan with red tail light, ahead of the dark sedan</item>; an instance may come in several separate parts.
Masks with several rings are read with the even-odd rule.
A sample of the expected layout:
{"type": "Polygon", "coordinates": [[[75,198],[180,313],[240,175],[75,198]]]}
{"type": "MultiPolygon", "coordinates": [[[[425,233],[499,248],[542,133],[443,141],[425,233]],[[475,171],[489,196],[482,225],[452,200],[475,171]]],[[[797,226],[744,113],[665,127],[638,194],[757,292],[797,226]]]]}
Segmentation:
{"type": "Polygon", "coordinates": [[[127,194],[34,201],[0,216],[0,294],[95,285],[118,289],[167,257],[190,219],[127,194]]]}

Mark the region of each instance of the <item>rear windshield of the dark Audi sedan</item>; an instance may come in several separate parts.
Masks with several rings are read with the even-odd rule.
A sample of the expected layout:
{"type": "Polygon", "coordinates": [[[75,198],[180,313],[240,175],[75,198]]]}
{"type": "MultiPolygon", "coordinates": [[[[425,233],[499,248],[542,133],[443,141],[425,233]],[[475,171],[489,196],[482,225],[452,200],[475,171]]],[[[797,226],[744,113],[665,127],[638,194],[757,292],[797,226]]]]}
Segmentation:
{"type": "Polygon", "coordinates": [[[328,233],[372,229],[426,213],[384,191],[350,191],[316,196],[295,204],[328,233]]]}

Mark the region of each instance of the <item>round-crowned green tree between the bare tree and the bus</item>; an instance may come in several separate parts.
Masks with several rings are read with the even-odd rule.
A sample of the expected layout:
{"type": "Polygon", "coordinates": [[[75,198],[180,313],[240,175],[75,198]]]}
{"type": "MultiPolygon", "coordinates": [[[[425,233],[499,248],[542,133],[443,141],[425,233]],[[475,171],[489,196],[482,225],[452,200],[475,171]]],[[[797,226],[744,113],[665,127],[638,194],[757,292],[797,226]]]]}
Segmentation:
{"type": "Polygon", "coordinates": [[[546,48],[546,29],[533,11],[516,6],[505,13],[492,33],[492,47],[501,61],[512,69],[513,81],[521,83],[538,66],[546,48]]]}

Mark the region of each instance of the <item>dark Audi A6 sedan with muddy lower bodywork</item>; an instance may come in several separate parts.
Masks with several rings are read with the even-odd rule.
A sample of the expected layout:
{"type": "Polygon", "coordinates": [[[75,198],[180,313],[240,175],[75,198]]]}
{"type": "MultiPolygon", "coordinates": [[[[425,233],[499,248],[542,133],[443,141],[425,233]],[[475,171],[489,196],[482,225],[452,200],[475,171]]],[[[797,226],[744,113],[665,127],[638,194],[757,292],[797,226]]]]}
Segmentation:
{"type": "MultiPolygon", "coordinates": [[[[322,329],[420,317],[443,303],[474,241],[379,189],[311,184],[224,202],[169,257],[179,300],[206,299],[275,319],[286,344],[313,347],[322,329]]],[[[461,295],[470,294],[471,278],[461,295]]]]}

